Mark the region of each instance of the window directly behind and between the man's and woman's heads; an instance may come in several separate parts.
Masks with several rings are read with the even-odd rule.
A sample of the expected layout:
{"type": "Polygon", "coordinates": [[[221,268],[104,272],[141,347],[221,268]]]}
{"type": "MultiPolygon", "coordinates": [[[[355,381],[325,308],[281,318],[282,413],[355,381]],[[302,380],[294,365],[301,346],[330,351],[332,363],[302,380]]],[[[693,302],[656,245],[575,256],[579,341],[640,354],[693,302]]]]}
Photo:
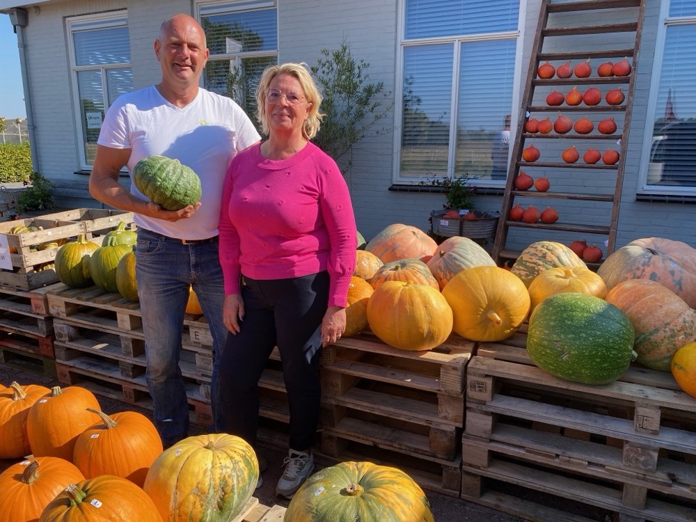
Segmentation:
{"type": "Polygon", "coordinates": [[[234,98],[255,121],[261,73],[278,63],[275,1],[227,1],[200,5],[210,58],[205,88],[234,98]]]}

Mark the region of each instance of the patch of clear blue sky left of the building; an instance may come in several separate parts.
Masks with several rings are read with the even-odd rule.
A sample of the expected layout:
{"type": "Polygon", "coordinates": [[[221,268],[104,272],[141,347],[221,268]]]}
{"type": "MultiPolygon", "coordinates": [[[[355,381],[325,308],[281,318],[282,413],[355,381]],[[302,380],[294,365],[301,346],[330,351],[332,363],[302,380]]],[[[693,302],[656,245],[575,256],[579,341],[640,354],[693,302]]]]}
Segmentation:
{"type": "Polygon", "coordinates": [[[5,49],[3,74],[0,74],[0,116],[26,118],[17,35],[10,24],[10,17],[3,14],[0,14],[0,49],[5,49]]]}

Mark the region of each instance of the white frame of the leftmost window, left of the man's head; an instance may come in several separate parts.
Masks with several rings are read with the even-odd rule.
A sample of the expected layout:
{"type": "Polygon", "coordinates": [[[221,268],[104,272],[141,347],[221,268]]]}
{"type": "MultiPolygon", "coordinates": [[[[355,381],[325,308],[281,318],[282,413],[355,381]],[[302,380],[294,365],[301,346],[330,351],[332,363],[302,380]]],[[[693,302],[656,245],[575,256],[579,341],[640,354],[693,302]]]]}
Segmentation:
{"type": "MultiPolygon", "coordinates": [[[[70,90],[72,91],[73,100],[73,117],[75,122],[75,127],[77,131],[78,141],[77,148],[79,151],[79,161],[80,168],[83,171],[90,171],[93,164],[88,163],[87,150],[86,150],[86,133],[82,122],[82,104],[80,100],[79,93],[79,72],[82,71],[95,71],[99,70],[102,74],[102,95],[104,102],[104,113],[102,114],[102,121],[104,114],[109,110],[111,106],[109,99],[109,75],[107,72],[114,69],[131,69],[133,67],[133,60],[127,63],[109,63],[104,65],[77,65],[77,56],[75,55],[75,45],[74,45],[74,34],[79,31],[93,31],[95,29],[112,29],[115,27],[126,27],[128,28],[128,10],[122,9],[118,11],[111,11],[109,13],[93,13],[89,15],[77,15],[71,16],[65,19],[65,31],[67,33],[68,40],[68,54],[70,60],[70,90]]],[[[129,42],[130,47],[130,33],[129,42]]],[[[134,84],[132,85],[134,88],[134,84]]]]}

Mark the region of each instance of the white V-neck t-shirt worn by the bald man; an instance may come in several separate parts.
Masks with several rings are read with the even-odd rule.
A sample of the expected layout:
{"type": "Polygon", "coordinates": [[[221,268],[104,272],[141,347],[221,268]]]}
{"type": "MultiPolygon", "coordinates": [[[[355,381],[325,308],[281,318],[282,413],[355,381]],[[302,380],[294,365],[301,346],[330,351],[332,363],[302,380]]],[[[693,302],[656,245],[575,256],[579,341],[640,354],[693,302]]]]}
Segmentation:
{"type": "MultiPolygon", "coordinates": [[[[251,120],[228,97],[199,89],[184,108],[167,102],[155,86],[126,93],[106,113],[100,145],[129,148],[129,173],[145,157],[178,159],[200,177],[200,208],[176,223],[135,214],[137,226],[180,239],[205,239],[218,233],[223,184],[237,152],[259,141],[251,120]]],[[[135,184],[131,193],[147,200],[135,184]]]]}

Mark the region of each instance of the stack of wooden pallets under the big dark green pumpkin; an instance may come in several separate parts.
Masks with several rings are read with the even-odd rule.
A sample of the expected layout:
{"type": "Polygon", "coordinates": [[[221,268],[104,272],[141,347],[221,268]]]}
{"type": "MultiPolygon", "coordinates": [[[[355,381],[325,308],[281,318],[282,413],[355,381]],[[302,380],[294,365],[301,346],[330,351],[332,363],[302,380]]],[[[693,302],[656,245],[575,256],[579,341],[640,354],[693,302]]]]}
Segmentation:
{"type": "Polygon", "coordinates": [[[694,519],[696,399],[637,365],[605,386],[557,379],[524,345],[480,343],[468,366],[461,497],[492,505],[498,480],[622,520],[694,519]]]}

